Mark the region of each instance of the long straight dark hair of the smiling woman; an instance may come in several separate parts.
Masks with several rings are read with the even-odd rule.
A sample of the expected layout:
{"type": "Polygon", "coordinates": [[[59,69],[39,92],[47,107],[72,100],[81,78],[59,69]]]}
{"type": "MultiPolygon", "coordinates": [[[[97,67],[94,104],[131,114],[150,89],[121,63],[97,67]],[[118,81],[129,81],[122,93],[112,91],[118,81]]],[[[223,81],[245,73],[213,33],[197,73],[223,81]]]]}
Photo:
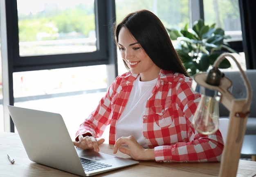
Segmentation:
{"type": "MultiPolygon", "coordinates": [[[[148,10],[136,11],[128,14],[119,24],[114,24],[116,43],[118,43],[118,35],[122,27],[130,31],[159,68],[189,76],[173,48],[166,28],[154,13],[148,10]]],[[[124,64],[129,69],[126,62],[124,64]]]]}

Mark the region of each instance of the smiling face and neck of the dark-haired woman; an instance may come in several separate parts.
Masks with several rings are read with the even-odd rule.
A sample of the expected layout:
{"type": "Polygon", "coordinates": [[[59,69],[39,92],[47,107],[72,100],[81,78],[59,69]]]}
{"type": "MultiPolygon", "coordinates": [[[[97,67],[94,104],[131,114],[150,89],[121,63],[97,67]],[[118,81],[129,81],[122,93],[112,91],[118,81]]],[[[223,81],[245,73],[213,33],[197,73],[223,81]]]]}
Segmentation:
{"type": "Polygon", "coordinates": [[[141,81],[156,79],[160,68],[148,57],[127,28],[120,29],[118,39],[121,57],[129,66],[130,72],[140,74],[141,81]]]}

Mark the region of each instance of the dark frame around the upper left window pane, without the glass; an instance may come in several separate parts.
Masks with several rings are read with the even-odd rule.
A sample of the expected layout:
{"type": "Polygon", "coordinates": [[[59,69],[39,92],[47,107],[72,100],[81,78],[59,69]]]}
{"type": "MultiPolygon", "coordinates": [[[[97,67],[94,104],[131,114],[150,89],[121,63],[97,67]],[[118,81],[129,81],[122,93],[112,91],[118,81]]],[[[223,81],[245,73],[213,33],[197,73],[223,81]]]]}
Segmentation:
{"type": "Polygon", "coordinates": [[[91,66],[108,64],[105,0],[95,0],[95,26],[97,35],[97,51],[83,53],[68,53],[54,55],[20,56],[18,37],[17,0],[6,0],[7,9],[7,40],[9,59],[12,61],[13,72],[43,70],[53,68],[68,68],[76,66],[91,66]],[[100,13],[99,13],[100,12],[100,13]]]}

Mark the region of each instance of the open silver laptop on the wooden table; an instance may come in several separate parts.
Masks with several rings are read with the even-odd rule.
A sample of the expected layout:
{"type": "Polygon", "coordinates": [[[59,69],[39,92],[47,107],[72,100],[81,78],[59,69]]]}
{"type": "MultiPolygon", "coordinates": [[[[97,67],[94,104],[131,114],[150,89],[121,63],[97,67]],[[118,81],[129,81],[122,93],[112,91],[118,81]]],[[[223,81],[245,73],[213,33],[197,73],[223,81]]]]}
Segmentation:
{"type": "Polygon", "coordinates": [[[60,114],[10,105],[8,109],[27,155],[33,162],[80,176],[96,175],[139,163],[92,150],[76,149],[60,114]],[[82,163],[96,163],[98,166],[89,169],[82,163]]]}

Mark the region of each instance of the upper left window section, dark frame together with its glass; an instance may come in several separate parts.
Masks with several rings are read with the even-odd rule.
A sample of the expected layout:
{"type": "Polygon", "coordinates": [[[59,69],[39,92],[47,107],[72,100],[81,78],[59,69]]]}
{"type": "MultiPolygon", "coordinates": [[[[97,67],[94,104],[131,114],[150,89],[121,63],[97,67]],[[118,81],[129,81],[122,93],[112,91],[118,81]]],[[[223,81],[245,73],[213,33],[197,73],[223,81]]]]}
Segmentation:
{"type": "Polygon", "coordinates": [[[109,63],[106,1],[6,3],[14,72],[109,63]]]}

